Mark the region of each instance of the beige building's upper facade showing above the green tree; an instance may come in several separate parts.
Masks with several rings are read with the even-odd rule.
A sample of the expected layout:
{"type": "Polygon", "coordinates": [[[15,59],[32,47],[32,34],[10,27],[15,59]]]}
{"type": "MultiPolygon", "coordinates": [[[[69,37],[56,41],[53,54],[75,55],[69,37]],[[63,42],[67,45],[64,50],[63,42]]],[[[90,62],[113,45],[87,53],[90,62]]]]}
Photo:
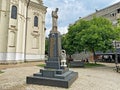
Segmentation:
{"type": "Polygon", "coordinates": [[[83,17],[84,20],[90,20],[94,16],[96,17],[105,17],[109,19],[113,25],[118,25],[118,20],[120,19],[120,2],[108,6],[101,10],[96,10],[95,13],[92,13],[86,17],[83,17]]]}

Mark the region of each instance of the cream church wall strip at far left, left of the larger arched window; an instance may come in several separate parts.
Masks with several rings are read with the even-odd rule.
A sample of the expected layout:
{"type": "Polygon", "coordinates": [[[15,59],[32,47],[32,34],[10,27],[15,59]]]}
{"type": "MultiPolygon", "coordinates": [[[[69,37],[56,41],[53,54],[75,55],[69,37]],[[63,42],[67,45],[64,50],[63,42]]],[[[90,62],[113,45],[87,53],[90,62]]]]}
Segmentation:
{"type": "Polygon", "coordinates": [[[8,43],[9,1],[0,0],[0,61],[6,60],[8,43]]]}

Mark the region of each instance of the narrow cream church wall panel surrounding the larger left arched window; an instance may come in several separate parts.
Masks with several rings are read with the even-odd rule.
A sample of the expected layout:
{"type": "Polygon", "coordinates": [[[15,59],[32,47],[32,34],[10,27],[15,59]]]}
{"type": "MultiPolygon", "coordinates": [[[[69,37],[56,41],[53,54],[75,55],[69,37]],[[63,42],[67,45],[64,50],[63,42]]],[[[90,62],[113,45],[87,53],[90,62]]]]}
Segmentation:
{"type": "Polygon", "coordinates": [[[8,27],[8,44],[7,44],[7,58],[6,60],[15,60],[16,59],[16,41],[17,41],[17,32],[18,32],[18,15],[17,18],[11,18],[12,6],[17,7],[18,13],[18,1],[10,1],[10,14],[9,14],[9,27],[8,27]]]}

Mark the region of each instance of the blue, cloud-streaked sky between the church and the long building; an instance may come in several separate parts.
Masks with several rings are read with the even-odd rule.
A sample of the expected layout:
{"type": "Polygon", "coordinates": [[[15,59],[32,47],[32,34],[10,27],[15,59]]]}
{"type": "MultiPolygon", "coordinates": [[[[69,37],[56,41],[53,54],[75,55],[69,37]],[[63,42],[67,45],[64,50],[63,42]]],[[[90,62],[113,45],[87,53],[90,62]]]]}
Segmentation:
{"type": "Polygon", "coordinates": [[[43,0],[45,6],[47,6],[46,13],[46,36],[49,35],[52,29],[52,17],[51,12],[58,10],[58,31],[61,34],[67,33],[69,24],[73,24],[80,17],[88,16],[95,12],[108,7],[120,0],[43,0]]]}

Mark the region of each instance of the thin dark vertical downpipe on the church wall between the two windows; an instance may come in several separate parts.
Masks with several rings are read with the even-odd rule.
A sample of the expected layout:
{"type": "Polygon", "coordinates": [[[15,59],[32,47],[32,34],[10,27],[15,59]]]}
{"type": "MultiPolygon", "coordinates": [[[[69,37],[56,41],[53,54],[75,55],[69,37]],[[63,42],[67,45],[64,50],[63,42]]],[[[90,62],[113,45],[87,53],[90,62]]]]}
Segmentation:
{"type": "Polygon", "coordinates": [[[24,62],[26,62],[26,47],[27,47],[27,27],[28,27],[28,6],[30,4],[30,0],[27,1],[27,6],[26,6],[26,26],[25,26],[25,48],[24,48],[24,62]]]}

